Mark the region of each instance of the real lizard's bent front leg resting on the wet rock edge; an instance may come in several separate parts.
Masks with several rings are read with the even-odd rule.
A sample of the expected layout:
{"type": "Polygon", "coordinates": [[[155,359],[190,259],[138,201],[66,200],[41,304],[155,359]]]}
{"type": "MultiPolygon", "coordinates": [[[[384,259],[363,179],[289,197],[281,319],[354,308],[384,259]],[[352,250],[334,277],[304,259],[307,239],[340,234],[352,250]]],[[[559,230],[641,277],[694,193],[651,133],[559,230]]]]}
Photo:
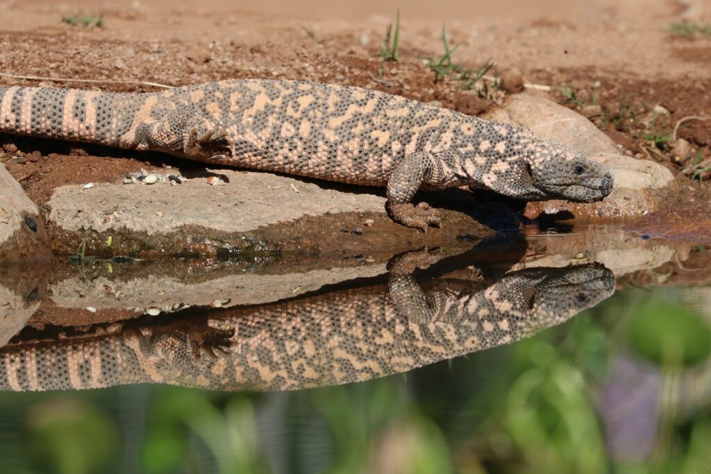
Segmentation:
{"type": "Polygon", "coordinates": [[[387,210],[395,222],[427,232],[427,226],[442,227],[437,212],[427,203],[417,207],[410,201],[422,183],[444,181],[442,163],[430,153],[419,151],[395,163],[387,178],[387,210]]]}

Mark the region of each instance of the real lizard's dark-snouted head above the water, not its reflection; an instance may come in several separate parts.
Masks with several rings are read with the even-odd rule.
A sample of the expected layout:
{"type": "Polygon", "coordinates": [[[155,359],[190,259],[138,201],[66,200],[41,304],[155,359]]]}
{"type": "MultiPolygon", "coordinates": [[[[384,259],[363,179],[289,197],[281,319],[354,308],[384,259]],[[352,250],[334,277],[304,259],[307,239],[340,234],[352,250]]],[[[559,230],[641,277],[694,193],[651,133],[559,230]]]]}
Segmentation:
{"type": "MultiPolygon", "coordinates": [[[[612,191],[612,172],[606,166],[557,141],[534,139],[523,156],[525,174],[540,198],[589,203],[612,191]]],[[[535,193],[533,193],[535,195],[535,193]]]]}

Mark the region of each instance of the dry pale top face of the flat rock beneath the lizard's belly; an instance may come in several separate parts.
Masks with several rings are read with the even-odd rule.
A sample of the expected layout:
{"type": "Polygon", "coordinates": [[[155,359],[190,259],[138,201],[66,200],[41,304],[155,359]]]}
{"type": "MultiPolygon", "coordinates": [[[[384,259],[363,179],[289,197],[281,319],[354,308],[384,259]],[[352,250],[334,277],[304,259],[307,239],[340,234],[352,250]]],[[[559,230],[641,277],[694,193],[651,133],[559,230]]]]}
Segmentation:
{"type": "Polygon", "coordinates": [[[384,212],[385,198],[368,193],[344,193],[314,183],[270,173],[213,170],[220,185],[208,178],[168,183],[57,188],[48,205],[50,221],[66,230],[104,232],[124,228],[148,235],[183,225],[247,232],[263,225],[328,212],[384,212]]]}

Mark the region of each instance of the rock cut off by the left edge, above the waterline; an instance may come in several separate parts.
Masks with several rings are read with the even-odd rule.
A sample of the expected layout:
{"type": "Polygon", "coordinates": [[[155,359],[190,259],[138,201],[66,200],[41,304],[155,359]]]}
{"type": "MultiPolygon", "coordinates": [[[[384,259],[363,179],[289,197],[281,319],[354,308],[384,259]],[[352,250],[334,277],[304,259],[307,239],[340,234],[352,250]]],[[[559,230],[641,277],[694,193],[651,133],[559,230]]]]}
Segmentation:
{"type": "Polygon", "coordinates": [[[0,261],[49,257],[49,244],[37,206],[0,164],[0,261]]]}

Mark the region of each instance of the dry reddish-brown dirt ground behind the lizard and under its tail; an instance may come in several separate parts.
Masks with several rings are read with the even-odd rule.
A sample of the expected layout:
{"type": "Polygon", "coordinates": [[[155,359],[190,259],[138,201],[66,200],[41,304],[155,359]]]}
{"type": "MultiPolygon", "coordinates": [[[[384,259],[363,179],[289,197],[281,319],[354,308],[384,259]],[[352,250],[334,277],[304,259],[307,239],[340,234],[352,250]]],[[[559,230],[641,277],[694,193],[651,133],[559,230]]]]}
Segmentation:
{"type": "MultiPolygon", "coordinates": [[[[0,2],[0,18],[0,86],[152,91],[139,82],[280,77],[370,87],[479,114],[515,88],[518,69],[528,85],[580,110],[629,153],[671,168],[697,200],[707,195],[709,0],[11,0],[0,2]],[[398,8],[399,60],[387,61],[378,53],[398,8]],[[80,14],[102,15],[101,25],[71,24],[80,14]],[[444,27],[447,47],[458,46],[449,58],[444,27]],[[487,76],[503,77],[503,90],[472,82],[467,72],[489,58],[495,65],[487,76]]],[[[116,182],[164,163],[196,168],[168,156],[1,134],[0,162],[40,206],[59,185],[116,182]]]]}

